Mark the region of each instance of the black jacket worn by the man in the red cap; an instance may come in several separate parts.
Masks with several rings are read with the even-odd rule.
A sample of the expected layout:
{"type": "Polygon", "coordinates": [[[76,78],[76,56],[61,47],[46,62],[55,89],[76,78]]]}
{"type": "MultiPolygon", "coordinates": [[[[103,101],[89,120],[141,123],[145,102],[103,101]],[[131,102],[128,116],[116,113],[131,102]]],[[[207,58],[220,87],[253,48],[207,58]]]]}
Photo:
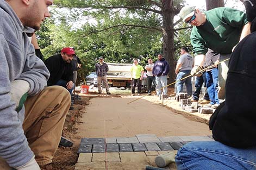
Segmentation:
{"type": "Polygon", "coordinates": [[[73,81],[72,64],[65,62],[60,54],[50,56],[45,60],[45,65],[51,74],[47,81],[48,86],[56,85],[60,79],[73,81]]]}

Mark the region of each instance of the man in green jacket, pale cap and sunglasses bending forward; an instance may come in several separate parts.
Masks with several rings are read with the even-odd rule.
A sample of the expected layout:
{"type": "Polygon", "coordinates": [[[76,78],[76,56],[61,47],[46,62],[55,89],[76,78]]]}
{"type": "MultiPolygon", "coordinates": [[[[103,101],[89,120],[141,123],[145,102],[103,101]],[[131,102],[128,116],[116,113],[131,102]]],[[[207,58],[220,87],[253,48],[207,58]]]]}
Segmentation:
{"type": "MultiPolygon", "coordinates": [[[[192,75],[201,70],[208,48],[220,53],[220,61],[223,61],[230,57],[236,44],[250,33],[251,24],[246,20],[246,14],[236,9],[221,7],[201,12],[195,7],[183,7],[179,16],[184,22],[194,26],[190,35],[192,52],[195,54],[192,75]]],[[[228,60],[218,68],[218,97],[224,99],[228,60]]]]}

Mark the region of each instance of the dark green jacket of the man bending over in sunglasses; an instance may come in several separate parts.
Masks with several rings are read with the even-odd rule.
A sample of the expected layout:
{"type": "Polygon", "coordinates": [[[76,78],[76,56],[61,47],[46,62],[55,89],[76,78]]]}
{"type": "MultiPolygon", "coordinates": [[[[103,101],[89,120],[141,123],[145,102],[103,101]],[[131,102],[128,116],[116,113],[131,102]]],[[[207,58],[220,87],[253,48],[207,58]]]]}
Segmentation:
{"type": "Polygon", "coordinates": [[[190,39],[195,55],[206,54],[208,48],[220,54],[229,54],[239,42],[246,14],[232,8],[215,8],[205,12],[207,21],[193,27],[190,39]]]}

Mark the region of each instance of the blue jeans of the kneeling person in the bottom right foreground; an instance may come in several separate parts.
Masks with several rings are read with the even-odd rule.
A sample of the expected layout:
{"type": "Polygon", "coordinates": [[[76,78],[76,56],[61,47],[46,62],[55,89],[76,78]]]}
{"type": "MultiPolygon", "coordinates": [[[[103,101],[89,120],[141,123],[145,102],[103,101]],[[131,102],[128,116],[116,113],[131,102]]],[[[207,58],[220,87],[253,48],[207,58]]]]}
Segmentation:
{"type": "Polygon", "coordinates": [[[178,150],[178,170],[256,169],[256,148],[233,148],[217,141],[191,142],[178,150]]]}

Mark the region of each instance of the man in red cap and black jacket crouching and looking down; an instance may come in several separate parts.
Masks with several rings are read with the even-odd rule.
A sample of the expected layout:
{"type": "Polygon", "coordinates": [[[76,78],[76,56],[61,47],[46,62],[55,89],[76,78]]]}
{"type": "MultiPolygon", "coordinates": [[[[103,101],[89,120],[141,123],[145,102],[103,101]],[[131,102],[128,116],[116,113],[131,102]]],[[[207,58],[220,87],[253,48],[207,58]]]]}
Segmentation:
{"type": "Polygon", "coordinates": [[[50,72],[48,86],[59,85],[65,87],[70,93],[73,90],[73,68],[70,63],[75,55],[74,50],[65,47],[60,54],[50,56],[45,65],[50,72]]]}

